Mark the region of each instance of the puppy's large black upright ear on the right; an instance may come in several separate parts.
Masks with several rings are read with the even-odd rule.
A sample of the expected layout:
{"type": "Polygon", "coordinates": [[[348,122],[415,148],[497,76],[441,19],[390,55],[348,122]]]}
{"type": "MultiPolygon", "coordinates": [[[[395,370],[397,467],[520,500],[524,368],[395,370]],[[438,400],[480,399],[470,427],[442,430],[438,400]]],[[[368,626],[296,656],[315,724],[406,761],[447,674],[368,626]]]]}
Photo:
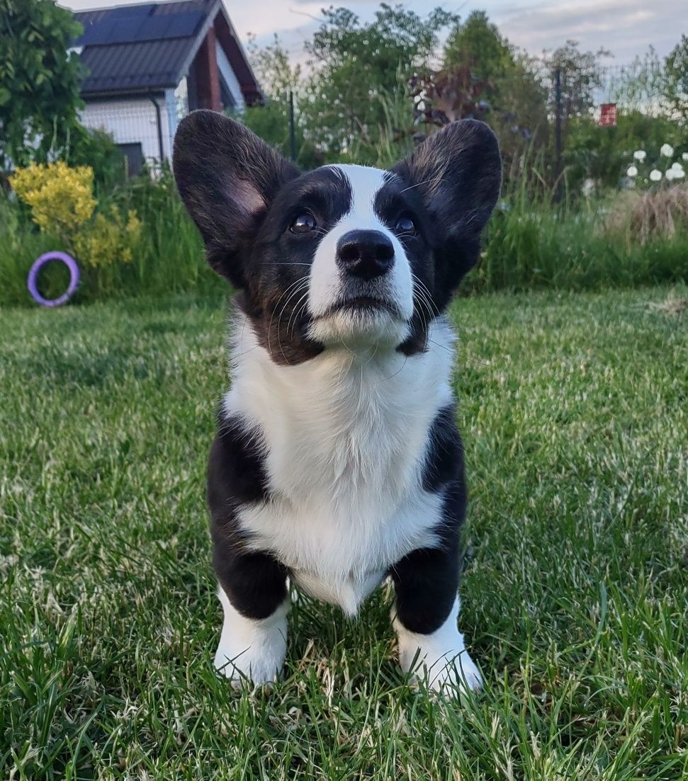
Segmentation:
{"type": "Polygon", "coordinates": [[[480,234],[500,194],[502,160],[484,122],[463,119],[443,127],[395,166],[421,195],[436,235],[435,258],[452,290],[475,265],[480,234]]]}

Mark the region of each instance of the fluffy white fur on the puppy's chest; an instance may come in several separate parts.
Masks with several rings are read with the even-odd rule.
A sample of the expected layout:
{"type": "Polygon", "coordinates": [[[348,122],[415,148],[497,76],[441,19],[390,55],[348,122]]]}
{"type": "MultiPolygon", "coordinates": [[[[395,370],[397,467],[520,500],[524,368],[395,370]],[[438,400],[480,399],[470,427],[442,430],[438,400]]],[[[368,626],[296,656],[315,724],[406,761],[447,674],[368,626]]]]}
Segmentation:
{"type": "Polygon", "coordinates": [[[391,565],[435,544],[442,498],[422,472],[432,421],[451,400],[450,349],[408,360],[342,349],[291,367],[240,349],[224,407],[260,427],[271,496],[241,508],[240,525],[303,590],[356,612],[391,565]]]}

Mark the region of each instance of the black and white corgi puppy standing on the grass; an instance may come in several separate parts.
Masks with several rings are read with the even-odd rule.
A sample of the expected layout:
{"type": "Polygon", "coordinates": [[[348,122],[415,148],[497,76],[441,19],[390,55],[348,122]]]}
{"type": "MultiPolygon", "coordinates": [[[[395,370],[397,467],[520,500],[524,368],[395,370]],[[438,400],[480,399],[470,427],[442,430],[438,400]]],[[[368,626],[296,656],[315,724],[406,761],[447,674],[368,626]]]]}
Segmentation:
{"type": "Polygon", "coordinates": [[[288,580],[351,615],[389,576],[402,668],[478,687],[457,628],[466,489],[443,310],[499,194],[492,130],[452,123],[390,170],[300,173],[198,111],[174,175],[238,291],[208,474],[217,669],[278,675],[288,580]]]}

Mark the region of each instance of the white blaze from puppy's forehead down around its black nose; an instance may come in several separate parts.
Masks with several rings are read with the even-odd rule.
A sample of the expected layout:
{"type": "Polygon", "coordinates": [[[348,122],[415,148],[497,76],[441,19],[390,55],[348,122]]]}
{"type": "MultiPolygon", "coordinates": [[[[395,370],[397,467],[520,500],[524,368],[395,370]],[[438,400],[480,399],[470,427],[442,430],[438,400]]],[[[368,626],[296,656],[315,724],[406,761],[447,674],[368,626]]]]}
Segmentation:
{"type": "Polygon", "coordinates": [[[346,212],[323,237],[315,253],[310,270],[310,288],[308,304],[312,315],[319,316],[328,312],[344,294],[346,279],[336,263],[337,243],[349,230],[379,230],[392,242],[394,248],[394,266],[378,282],[385,287],[387,298],[393,301],[405,319],[413,314],[413,284],[410,266],[403,245],[389,226],[375,212],[375,198],[389,181],[389,173],[367,166],[336,165],[329,166],[339,173],[349,185],[351,204],[346,212]]]}

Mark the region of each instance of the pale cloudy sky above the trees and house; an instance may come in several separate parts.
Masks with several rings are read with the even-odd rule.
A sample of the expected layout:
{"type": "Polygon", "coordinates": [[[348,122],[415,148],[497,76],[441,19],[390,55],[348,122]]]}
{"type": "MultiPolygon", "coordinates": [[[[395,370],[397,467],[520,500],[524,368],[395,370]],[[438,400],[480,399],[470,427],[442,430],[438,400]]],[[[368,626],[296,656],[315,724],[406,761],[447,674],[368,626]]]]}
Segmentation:
{"type": "MultiPolygon", "coordinates": [[[[133,0],[127,0],[133,2],[133,0]]],[[[317,27],[324,6],[346,5],[360,16],[371,19],[378,2],[371,0],[223,0],[239,37],[245,43],[255,34],[267,43],[277,33],[294,59],[303,61],[303,41],[317,27]]],[[[392,0],[394,2],[394,0],[392,0]]],[[[125,5],[114,0],[59,0],[74,10],[125,5]]],[[[466,17],[475,9],[485,10],[511,43],[532,55],[554,49],[568,38],[583,48],[604,48],[615,56],[609,62],[624,65],[642,56],[652,45],[663,56],[688,34],[686,0],[483,0],[483,2],[437,2],[410,0],[408,8],[425,16],[435,6],[466,17]]]]}

